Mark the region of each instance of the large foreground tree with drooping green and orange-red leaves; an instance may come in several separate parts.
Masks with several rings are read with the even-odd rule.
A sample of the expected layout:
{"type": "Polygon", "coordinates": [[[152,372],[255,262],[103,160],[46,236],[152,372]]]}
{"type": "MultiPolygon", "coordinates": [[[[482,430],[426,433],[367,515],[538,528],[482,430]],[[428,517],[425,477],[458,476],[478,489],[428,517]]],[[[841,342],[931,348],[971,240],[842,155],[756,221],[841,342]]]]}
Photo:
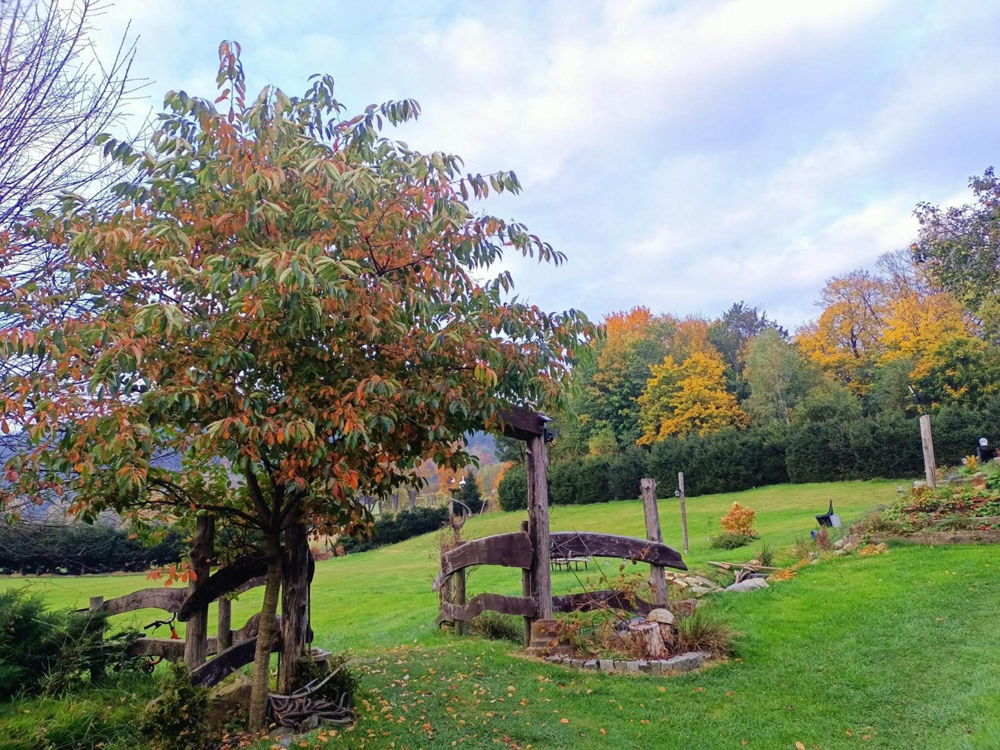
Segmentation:
{"type": "Polygon", "coordinates": [[[30,447],[0,499],[65,487],[85,517],[210,511],[259,532],[260,728],[282,540],[350,533],[368,520],[361,496],[387,497],[424,458],[469,463],[464,436],[510,405],[557,405],[593,330],[575,311],[506,301],[509,274],[489,275],[505,250],[562,259],[470,208],[518,192],[512,173],[463,175],[455,156],[382,138],[417,104],[345,118],[329,76],[301,97],[267,86],[247,99],[238,45],[219,53],[215,103],[171,91],[150,152],[106,141],[141,169],[118,210],[69,203],[33,226],[64,248],[73,284],[8,279],[0,298],[23,321],[0,355],[33,363],[2,383],[3,428],[30,447]],[[71,297],[93,304],[66,314],[71,297]],[[159,466],[167,452],[188,471],[159,466]],[[236,479],[206,483],[220,465],[236,479]]]}

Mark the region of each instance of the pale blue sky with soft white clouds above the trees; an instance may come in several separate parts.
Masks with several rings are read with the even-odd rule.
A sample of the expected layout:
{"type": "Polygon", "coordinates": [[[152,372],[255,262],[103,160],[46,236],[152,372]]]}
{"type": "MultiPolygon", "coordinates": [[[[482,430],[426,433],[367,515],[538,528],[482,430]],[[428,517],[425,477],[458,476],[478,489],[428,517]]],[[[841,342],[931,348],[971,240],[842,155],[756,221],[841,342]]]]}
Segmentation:
{"type": "Polygon", "coordinates": [[[222,39],[253,93],[322,72],[351,113],[416,99],[388,135],[513,170],[483,208],[568,258],[508,258],[516,292],[594,319],[745,300],[794,328],[1000,162],[994,0],[117,0],[98,49],[127,23],[137,116],[214,98],[222,39]]]}

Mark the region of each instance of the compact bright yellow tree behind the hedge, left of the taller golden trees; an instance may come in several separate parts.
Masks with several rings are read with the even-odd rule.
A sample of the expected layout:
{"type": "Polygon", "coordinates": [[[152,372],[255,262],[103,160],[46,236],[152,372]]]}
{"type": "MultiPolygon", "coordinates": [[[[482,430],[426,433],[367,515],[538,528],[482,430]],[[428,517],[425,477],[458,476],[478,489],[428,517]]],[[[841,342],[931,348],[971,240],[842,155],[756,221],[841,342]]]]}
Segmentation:
{"type": "Polygon", "coordinates": [[[639,397],[640,445],[672,435],[704,435],[724,427],[745,427],[749,417],[726,390],[721,359],[695,352],[678,365],[667,355],[653,365],[639,397]]]}

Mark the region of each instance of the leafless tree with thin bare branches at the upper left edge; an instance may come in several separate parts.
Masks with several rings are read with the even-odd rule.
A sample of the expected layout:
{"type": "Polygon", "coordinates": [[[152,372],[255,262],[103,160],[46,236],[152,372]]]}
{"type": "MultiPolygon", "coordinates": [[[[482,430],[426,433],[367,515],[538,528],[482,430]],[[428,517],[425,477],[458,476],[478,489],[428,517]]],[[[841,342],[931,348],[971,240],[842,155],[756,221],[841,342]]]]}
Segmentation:
{"type": "MultiPolygon", "coordinates": [[[[94,210],[117,198],[108,189],[126,167],[102,158],[97,136],[122,125],[138,86],[128,32],[101,59],[95,0],[0,0],[0,330],[32,325],[11,295],[64,291],[63,248],[19,231],[37,209],[81,196],[94,210]],[[8,304],[5,304],[8,303],[8,304]]],[[[66,310],[77,301],[67,299],[66,310]]],[[[27,376],[35,362],[0,359],[0,371],[27,376]]],[[[2,400],[0,400],[2,404],[2,400]]],[[[0,465],[23,449],[23,435],[0,434],[0,465]]],[[[0,477],[2,479],[2,477],[0,477]]]]}

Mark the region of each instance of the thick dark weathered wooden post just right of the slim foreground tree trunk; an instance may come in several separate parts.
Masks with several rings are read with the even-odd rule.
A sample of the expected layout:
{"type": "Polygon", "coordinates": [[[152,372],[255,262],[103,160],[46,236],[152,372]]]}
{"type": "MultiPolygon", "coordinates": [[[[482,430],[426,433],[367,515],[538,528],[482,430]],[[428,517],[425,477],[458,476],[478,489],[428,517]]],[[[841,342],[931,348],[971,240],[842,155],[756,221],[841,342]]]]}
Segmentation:
{"type": "Polygon", "coordinates": [[[298,685],[299,659],[309,630],[309,535],[296,516],[285,530],[281,576],[281,656],[278,692],[290,695],[298,685]]]}

